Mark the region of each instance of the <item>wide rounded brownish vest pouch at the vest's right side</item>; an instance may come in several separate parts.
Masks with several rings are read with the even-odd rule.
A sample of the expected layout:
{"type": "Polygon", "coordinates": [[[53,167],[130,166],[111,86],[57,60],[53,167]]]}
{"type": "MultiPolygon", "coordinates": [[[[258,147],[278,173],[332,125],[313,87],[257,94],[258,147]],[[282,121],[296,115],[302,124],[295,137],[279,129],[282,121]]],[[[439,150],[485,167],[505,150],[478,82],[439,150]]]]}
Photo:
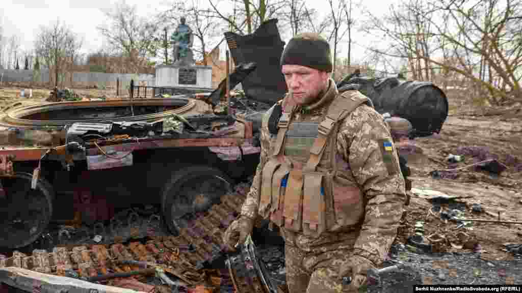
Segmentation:
{"type": "Polygon", "coordinates": [[[362,192],[354,182],[339,176],[332,178],[331,188],[336,224],[330,230],[350,230],[364,216],[362,192]]]}

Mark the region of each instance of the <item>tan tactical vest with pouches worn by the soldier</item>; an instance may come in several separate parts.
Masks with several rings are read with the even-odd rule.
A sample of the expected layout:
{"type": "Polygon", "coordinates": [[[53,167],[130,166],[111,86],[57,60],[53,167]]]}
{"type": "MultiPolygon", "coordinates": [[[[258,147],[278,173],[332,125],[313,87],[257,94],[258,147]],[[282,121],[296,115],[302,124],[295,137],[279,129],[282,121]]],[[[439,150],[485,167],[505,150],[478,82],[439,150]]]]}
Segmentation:
{"type": "Polygon", "coordinates": [[[261,216],[312,237],[360,223],[363,194],[351,171],[338,168],[336,154],[339,123],[363,103],[373,107],[360,92],[343,92],[328,106],[321,123],[292,122],[294,109],[283,108],[262,170],[261,216]]]}

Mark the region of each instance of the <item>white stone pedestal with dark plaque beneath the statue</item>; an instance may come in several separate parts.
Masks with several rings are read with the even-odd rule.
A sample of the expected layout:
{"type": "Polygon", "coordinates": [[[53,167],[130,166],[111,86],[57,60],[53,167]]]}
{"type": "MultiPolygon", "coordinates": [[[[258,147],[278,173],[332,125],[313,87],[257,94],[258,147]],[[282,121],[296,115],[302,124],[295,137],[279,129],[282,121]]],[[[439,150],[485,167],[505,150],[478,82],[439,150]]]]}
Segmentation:
{"type": "Polygon", "coordinates": [[[211,66],[175,66],[156,67],[156,87],[176,88],[212,88],[211,66]]]}

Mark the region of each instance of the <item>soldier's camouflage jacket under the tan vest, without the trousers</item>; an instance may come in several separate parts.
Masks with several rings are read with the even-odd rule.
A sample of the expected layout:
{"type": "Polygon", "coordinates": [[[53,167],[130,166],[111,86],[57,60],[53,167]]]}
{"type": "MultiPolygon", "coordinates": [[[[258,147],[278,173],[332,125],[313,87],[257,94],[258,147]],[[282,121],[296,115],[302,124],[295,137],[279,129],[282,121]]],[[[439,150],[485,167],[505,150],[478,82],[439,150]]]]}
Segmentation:
{"type": "MultiPolygon", "coordinates": [[[[330,80],[331,86],[335,87],[333,80],[330,80]]],[[[275,136],[268,130],[268,119],[273,109],[272,106],[263,116],[260,162],[241,210],[242,215],[250,218],[256,218],[258,215],[261,172],[268,158],[271,138],[275,136]]],[[[322,113],[297,111],[293,119],[299,120],[303,115],[320,116],[322,113]]],[[[355,108],[341,121],[337,133],[339,167],[351,170],[366,202],[364,222],[361,223],[359,236],[355,240],[353,254],[361,255],[375,265],[382,263],[397,235],[406,198],[404,177],[400,171],[389,175],[383,162],[378,141],[389,137],[390,133],[382,115],[367,105],[355,108]]],[[[394,152],[394,155],[397,154],[394,152]]],[[[398,163],[396,167],[399,168],[398,163]]],[[[310,237],[299,235],[296,242],[301,244],[300,247],[312,246],[315,241],[308,238],[310,237]]]]}

